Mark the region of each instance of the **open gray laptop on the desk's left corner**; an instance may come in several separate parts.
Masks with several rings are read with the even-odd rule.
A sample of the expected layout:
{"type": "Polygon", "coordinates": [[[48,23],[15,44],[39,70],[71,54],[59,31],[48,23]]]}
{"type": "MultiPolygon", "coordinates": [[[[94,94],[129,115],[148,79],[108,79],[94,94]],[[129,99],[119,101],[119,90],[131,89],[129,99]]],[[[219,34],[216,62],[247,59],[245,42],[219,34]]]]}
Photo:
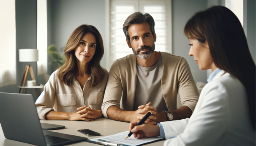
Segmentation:
{"type": "Polygon", "coordinates": [[[0,123],[7,139],[38,146],[60,146],[87,140],[86,137],[42,130],[31,94],[0,92],[0,123]]]}

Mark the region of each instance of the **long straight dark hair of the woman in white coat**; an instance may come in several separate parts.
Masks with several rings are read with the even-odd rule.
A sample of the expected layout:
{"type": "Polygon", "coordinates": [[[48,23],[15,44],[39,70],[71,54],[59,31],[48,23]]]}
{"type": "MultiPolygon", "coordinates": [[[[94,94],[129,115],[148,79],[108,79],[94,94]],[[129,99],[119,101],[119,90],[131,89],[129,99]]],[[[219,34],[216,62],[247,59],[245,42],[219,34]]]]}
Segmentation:
{"type": "Polygon", "coordinates": [[[213,6],[190,18],[184,33],[186,37],[201,43],[207,41],[215,65],[244,85],[255,130],[256,66],[239,19],[224,6],[213,6]]]}

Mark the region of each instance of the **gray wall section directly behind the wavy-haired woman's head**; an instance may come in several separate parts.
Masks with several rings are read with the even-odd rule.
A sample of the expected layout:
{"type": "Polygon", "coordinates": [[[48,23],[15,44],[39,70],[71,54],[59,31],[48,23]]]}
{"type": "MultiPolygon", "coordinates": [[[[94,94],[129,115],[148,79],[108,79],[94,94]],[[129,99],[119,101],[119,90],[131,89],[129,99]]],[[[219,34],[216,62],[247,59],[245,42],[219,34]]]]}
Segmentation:
{"type": "MultiPolygon", "coordinates": [[[[82,24],[95,26],[105,43],[105,0],[48,0],[48,13],[51,13],[51,36],[48,38],[52,38],[51,43],[58,49],[66,45],[71,33],[82,24]]],[[[106,68],[106,62],[105,53],[102,67],[106,68]]],[[[51,72],[55,69],[53,66],[51,72]]]]}

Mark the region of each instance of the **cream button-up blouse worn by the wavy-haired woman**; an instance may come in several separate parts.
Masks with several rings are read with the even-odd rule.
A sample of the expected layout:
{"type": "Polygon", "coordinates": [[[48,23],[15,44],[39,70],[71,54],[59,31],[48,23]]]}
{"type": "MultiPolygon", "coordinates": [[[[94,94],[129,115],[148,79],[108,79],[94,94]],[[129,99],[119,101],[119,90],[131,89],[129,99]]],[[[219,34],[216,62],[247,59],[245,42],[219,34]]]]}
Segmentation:
{"type": "Polygon", "coordinates": [[[50,111],[78,112],[76,109],[81,106],[90,106],[94,110],[101,110],[107,81],[108,71],[105,70],[105,77],[97,86],[90,88],[90,77],[85,82],[83,89],[75,77],[72,79],[73,85],[67,86],[58,79],[56,70],[35,102],[39,119],[46,120],[45,115],[50,111]]]}

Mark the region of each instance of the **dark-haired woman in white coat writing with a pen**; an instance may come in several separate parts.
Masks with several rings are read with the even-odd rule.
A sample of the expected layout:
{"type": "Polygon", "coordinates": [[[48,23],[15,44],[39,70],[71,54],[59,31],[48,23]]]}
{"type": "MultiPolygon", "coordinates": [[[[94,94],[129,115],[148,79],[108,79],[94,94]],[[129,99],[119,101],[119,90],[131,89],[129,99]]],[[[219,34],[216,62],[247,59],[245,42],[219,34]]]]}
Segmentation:
{"type": "Polygon", "coordinates": [[[189,55],[212,69],[190,118],[157,126],[130,124],[134,137],[165,137],[165,146],[255,146],[256,66],[236,15],[223,6],[186,23],[189,55]]]}

